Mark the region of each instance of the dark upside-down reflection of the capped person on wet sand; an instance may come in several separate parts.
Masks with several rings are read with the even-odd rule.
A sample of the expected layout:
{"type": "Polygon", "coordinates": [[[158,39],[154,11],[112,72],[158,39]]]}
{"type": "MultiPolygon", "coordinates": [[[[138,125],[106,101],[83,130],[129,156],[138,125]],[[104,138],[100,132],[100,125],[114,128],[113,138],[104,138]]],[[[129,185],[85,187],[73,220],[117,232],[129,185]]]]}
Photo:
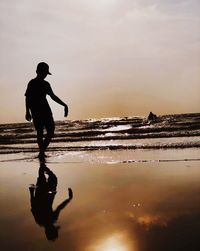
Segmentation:
{"type": "Polygon", "coordinates": [[[39,177],[36,186],[29,187],[31,196],[31,212],[35,221],[45,228],[45,234],[48,240],[55,240],[58,237],[59,226],[55,226],[61,210],[70,202],[73,197],[72,189],[68,189],[69,198],[64,200],[56,210],[52,209],[53,200],[56,194],[57,177],[55,174],[41,164],[39,168],[39,177]],[[45,177],[48,175],[48,178],[45,177]]]}

